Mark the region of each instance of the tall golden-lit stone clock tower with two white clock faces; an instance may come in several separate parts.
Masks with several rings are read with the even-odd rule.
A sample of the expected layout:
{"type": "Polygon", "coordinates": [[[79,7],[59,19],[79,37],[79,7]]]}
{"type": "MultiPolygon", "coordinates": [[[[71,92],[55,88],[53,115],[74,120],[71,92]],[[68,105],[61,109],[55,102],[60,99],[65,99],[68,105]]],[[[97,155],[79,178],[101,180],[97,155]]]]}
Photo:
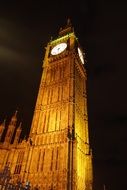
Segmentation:
{"type": "Polygon", "coordinates": [[[84,65],[68,20],[46,47],[30,131],[24,179],[41,190],[92,190],[84,65]]]}

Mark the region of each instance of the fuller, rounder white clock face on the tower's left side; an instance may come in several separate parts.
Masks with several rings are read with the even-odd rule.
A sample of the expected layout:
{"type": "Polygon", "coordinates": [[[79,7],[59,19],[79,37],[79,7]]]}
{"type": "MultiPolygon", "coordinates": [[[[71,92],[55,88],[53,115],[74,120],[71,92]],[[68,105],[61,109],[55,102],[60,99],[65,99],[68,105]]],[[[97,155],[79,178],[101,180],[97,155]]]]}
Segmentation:
{"type": "Polygon", "coordinates": [[[53,47],[53,49],[51,50],[51,54],[52,55],[57,55],[59,53],[62,53],[67,47],[66,43],[60,43],[57,44],[55,47],[53,47]]]}

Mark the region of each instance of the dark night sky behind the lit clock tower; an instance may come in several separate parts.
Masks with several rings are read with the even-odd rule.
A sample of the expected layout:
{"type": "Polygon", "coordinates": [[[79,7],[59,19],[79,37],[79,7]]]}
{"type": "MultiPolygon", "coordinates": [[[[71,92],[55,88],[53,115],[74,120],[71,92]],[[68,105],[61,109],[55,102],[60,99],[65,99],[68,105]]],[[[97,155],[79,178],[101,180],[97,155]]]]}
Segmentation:
{"type": "Polygon", "coordinates": [[[94,190],[127,189],[127,11],[122,1],[1,1],[0,122],[29,131],[45,46],[71,18],[86,52],[94,190]]]}

